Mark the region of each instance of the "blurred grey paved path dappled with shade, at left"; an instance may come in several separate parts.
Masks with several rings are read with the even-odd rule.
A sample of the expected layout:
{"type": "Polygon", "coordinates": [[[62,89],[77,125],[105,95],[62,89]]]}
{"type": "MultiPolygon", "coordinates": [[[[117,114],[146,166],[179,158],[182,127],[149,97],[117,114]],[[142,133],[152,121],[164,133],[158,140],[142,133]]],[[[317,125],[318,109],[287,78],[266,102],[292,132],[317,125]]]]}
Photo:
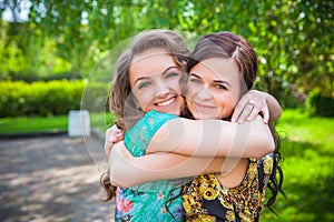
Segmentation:
{"type": "Polygon", "coordinates": [[[114,201],[100,202],[100,172],[88,154],[105,169],[102,142],[67,135],[1,139],[0,221],[110,221],[114,201]]]}

